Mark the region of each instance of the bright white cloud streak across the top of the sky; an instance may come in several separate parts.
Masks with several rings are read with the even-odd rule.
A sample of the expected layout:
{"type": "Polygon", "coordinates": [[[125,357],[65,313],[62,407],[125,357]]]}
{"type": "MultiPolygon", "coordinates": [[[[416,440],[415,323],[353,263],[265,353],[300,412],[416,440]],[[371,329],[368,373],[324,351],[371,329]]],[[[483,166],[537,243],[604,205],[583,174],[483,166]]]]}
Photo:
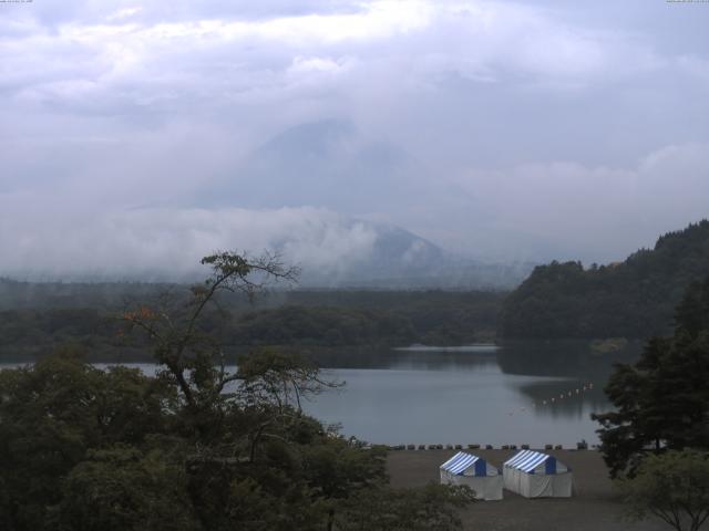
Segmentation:
{"type": "MultiPolygon", "coordinates": [[[[294,67],[317,75],[326,63],[312,61],[332,67],[342,56],[384,60],[413,72],[423,62],[427,77],[441,69],[484,80],[530,75],[548,86],[585,85],[659,64],[651,49],[623,34],[576,28],[545,11],[503,2],[383,0],[363,2],[353,12],[154,23],[141,14],[127,7],[109,15],[112,23],[80,19],[55,31],[35,25],[32,33],[0,43],[7,71],[20,92],[62,102],[69,95],[51,90],[58,84],[92,83],[105,93],[129,88],[129,97],[151,100],[147,94],[166,91],[164,83],[172,81],[177,92],[195,97],[201,85],[238,90],[267,71],[274,74],[268,83],[282,86],[294,67]]],[[[367,75],[364,69],[360,73],[367,75]]]]}

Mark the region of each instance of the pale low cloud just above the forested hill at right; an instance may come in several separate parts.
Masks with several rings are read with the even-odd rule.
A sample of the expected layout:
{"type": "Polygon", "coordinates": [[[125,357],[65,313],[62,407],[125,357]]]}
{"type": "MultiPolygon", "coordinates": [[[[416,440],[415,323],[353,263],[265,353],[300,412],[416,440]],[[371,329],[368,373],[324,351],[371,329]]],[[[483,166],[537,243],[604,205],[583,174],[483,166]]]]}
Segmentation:
{"type": "Polygon", "coordinates": [[[526,164],[470,171],[456,184],[483,208],[477,235],[523,235],[507,246],[511,256],[528,238],[562,249],[558,258],[607,261],[709,218],[708,173],[709,144],[689,144],[658,149],[633,168],[526,164]]]}

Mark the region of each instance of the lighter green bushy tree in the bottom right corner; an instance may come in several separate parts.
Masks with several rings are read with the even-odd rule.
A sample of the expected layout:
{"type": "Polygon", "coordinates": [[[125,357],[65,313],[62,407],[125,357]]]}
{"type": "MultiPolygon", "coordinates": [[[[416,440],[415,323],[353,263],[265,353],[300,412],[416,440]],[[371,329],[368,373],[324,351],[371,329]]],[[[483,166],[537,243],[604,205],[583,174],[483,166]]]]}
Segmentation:
{"type": "Polygon", "coordinates": [[[655,516],[677,531],[698,531],[709,518],[709,454],[648,456],[635,477],[619,480],[618,487],[631,520],[655,516]]]}

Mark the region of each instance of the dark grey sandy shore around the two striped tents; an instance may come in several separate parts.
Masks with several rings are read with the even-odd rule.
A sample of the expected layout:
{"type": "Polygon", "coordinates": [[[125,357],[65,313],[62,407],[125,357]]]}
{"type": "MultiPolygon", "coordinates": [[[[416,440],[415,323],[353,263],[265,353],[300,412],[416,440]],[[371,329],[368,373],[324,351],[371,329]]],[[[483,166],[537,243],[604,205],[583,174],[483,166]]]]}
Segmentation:
{"type": "MultiPolygon", "coordinates": [[[[501,468],[514,450],[471,450],[501,468]]],[[[390,451],[388,470],[394,487],[439,481],[439,466],[455,450],[390,451]]],[[[549,450],[574,472],[571,499],[528,500],[507,490],[502,501],[474,503],[463,511],[466,530],[621,531],[667,530],[659,521],[629,524],[621,520],[623,506],[614,496],[608,470],[597,451],[549,450]]]]}

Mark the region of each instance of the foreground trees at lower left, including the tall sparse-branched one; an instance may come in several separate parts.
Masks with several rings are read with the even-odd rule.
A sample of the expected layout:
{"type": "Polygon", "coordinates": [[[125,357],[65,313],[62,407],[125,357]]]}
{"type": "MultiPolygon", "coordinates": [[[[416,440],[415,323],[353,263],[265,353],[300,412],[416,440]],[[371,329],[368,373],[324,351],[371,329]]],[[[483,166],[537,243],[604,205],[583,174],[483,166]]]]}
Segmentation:
{"type": "Polygon", "coordinates": [[[212,275],[186,303],[123,313],[126,332],[151,345],[155,376],[103,371],[71,350],[0,371],[1,529],[456,529],[470,489],[392,490],[382,448],[302,413],[304,396],[338,385],[316,367],[265,348],[226,369],[202,325],[207,309],[222,292],[253,294],[258,279],[292,271],[232,253],[203,263],[212,275]]]}

